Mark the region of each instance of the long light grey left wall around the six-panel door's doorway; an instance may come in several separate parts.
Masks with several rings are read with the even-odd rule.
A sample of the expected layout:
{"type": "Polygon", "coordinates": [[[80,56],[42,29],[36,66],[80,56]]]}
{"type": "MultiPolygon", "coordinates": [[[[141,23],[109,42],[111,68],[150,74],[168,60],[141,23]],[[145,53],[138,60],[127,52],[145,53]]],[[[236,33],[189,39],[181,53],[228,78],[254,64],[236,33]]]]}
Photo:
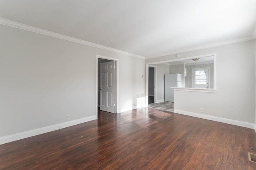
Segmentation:
{"type": "Polygon", "coordinates": [[[97,119],[96,55],[119,60],[120,110],[135,107],[136,94],[145,93],[144,59],[5,25],[0,39],[0,143],[8,135],[97,119]]]}

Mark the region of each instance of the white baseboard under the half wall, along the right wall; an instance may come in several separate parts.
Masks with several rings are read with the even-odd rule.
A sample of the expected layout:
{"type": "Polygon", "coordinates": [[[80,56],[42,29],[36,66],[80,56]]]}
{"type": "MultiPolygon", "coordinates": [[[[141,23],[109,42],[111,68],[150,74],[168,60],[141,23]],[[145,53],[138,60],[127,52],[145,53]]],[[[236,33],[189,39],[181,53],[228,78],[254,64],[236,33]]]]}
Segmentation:
{"type": "Polygon", "coordinates": [[[255,132],[256,132],[256,125],[254,123],[248,123],[248,122],[244,122],[244,121],[226,119],[226,118],[216,117],[216,116],[211,116],[211,115],[204,115],[204,114],[200,114],[200,113],[193,113],[193,112],[190,112],[190,111],[183,111],[183,110],[178,110],[178,109],[174,109],[174,113],[179,113],[179,114],[182,114],[182,115],[188,115],[188,116],[198,117],[198,118],[212,120],[212,121],[218,121],[218,122],[221,122],[221,123],[228,123],[230,125],[247,127],[247,128],[250,128],[250,129],[254,129],[255,132]]]}

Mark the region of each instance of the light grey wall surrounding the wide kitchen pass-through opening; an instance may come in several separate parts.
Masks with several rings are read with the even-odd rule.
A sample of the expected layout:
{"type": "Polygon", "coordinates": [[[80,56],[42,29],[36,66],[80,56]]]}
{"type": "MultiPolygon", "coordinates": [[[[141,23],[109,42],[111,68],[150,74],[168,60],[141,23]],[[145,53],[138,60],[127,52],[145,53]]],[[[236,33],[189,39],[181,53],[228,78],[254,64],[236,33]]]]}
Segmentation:
{"type": "MultiPolygon", "coordinates": [[[[175,92],[175,109],[255,123],[255,40],[181,53],[181,58],[216,53],[217,92],[175,92]],[[200,113],[200,108],[204,109],[200,113]]],[[[146,63],[176,59],[175,55],[146,63]]]]}

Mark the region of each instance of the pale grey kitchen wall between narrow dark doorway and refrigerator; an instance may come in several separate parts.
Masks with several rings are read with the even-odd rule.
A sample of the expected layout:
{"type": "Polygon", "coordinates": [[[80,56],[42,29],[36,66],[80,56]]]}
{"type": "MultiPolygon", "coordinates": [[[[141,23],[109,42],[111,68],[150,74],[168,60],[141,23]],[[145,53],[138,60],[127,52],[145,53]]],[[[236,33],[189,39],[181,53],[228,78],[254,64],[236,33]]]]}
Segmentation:
{"type": "Polygon", "coordinates": [[[169,74],[169,65],[153,64],[157,66],[157,103],[164,102],[164,74],[169,74]]]}

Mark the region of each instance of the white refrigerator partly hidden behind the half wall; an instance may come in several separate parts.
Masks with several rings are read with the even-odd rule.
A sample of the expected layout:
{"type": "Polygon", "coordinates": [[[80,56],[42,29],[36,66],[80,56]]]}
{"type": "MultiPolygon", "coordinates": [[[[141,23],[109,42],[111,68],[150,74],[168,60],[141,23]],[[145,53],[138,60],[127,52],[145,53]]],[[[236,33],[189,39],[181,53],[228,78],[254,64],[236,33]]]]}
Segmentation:
{"type": "Polygon", "coordinates": [[[174,102],[174,90],[171,87],[182,87],[181,74],[164,74],[164,101],[174,102]]]}

